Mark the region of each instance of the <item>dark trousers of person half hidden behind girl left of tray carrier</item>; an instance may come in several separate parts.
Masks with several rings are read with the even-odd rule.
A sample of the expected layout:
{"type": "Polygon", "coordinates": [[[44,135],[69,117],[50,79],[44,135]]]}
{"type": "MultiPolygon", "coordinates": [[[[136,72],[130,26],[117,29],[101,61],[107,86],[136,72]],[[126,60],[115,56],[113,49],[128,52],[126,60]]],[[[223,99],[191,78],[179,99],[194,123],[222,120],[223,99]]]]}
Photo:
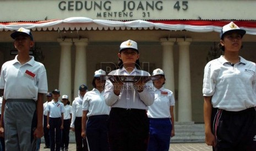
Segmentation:
{"type": "Polygon", "coordinates": [[[81,137],[82,117],[75,117],[75,143],[77,144],[77,151],[88,151],[87,141],[81,137]]]}

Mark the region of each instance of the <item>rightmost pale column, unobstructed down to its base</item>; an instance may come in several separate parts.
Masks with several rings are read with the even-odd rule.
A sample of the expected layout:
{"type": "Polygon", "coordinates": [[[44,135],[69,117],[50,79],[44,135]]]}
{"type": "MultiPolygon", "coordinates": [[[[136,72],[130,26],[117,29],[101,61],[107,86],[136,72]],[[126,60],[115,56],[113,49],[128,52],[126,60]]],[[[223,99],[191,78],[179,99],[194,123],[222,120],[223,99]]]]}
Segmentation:
{"type": "Polygon", "coordinates": [[[178,121],[192,121],[189,63],[189,45],[191,41],[191,38],[177,39],[179,45],[178,121]]]}

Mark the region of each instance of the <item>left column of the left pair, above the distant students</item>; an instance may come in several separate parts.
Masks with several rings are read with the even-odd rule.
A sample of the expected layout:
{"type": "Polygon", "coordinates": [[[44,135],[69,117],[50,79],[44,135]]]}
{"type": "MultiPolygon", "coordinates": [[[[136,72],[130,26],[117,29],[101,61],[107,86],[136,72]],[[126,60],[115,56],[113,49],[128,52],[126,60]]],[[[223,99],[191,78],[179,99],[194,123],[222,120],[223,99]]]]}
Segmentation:
{"type": "MultiPolygon", "coordinates": [[[[61,60],[59,66],[59,91],[62,95],[72,98],[72,78],[71,78],[71,47],[72,39],[57,39],[61,45],[61,60]]],[[[61,100],[61,97],[59,97],[61,100]]],[[[69,99],[69,101],[72,101],[69,99]]]]}

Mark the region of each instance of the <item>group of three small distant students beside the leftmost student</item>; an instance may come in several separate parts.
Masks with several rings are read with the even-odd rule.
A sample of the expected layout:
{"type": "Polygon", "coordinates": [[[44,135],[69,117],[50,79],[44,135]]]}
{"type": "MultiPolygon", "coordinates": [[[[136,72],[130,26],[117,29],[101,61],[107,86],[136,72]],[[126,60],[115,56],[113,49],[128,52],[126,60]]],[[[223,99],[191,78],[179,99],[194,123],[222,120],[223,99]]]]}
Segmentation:
{"type": "Polygon", "coordinates": [[[51,150],[68,150],[72,107],[67,95],[58,100],[59,90],[48,92],[43,103],[43,131],[45,147],[51,150]],[[53,99],[52,99],[53,98],[53,99]]]}

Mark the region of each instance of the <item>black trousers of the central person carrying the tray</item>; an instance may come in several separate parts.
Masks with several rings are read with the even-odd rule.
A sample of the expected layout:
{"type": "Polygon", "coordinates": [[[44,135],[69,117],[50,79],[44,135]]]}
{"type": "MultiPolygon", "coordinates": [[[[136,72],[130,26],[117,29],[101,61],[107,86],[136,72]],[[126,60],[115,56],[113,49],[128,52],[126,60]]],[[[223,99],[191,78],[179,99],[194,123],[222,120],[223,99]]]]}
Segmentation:
{"type": "Polygon", "coordinates": [[[146,151],[149,142],[149,119],[146,110],[111,108],[108,141],[111,151],[146,151]]]}

